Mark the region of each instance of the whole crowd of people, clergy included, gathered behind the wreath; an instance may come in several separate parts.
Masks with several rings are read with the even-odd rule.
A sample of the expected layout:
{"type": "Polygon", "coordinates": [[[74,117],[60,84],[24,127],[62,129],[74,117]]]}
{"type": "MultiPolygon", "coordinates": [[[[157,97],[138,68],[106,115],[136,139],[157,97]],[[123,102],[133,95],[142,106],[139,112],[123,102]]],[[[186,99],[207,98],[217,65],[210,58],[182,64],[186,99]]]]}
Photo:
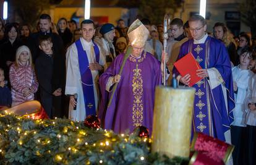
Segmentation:
{"type": "Polygon", "coordinates": [[[0,19],[0,108],[36,99],[51,119],[97,114],[116,133],[139,125],[151,133],[156,86],[171,85],[173,74],[189,85],[191,75],[180,75],[174,62],[192,53],[202,67],[192,132],[232,143],[234,164],[256,162],[256,39],[249,33],[234,36],[221,22],[207,32],[200,15],[176,18],[164,54],[163,25],[149,19],[129,27],[122,19],[116,27],[83,20],[79,27],[65,18],[54,25],[42,14],[35,30],[0,19]]]}

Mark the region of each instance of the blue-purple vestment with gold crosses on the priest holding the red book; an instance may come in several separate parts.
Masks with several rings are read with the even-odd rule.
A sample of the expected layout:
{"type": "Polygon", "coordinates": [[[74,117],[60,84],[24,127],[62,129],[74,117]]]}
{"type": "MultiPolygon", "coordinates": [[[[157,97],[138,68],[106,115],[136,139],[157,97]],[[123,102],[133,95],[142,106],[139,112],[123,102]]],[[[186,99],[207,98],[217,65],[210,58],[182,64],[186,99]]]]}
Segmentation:
{"type": "MultiPolygon", "coordinates": [[[[194,44],[189,40],[182,44],[177,60],[192,53],[203,69],[215,68],[220,73],[222,85],[211,88],[208,78],[193,85],[195,91],[194,117],[192,132],[202,132],[225,141],[224,132],[233,122],[234,91],[231,62],[228,51],[221,41],[210,36],[203,44],[194,44]],[[224,92],[223,92],[224,91],[224,92]],[[226,103],[225,98],[226,97],[226,103]]],[[[174,67],[173,73],[179,75],[174,67]]]]}

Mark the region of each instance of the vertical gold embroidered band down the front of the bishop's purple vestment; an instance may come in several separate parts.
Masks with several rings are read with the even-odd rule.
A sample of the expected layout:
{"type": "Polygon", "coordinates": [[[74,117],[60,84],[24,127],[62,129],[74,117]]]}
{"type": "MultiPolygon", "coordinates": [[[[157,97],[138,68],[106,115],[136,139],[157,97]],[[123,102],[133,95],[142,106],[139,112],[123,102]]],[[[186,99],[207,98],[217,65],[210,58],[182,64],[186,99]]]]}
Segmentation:
{"type": "Polygon", "coordinates": [[[134,94],[134,104],[132,106],[132,122],[134,126],[140,126],[143,122],[143,80],[141,69],[138,69],[138,64],[136,64],[136,69],[133,69],[134,77],[132,78],[132,93],[134,94]]]}

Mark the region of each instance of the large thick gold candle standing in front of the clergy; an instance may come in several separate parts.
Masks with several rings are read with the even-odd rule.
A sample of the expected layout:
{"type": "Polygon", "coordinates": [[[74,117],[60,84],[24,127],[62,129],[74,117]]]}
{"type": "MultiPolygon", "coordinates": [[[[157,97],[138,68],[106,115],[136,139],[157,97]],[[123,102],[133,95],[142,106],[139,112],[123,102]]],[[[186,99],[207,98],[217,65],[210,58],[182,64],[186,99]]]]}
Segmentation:
{"type": "Polygon", "coordinates": [[[152,152],[189,157],[194,98],[194,88],[156,87],[152,152]]]}

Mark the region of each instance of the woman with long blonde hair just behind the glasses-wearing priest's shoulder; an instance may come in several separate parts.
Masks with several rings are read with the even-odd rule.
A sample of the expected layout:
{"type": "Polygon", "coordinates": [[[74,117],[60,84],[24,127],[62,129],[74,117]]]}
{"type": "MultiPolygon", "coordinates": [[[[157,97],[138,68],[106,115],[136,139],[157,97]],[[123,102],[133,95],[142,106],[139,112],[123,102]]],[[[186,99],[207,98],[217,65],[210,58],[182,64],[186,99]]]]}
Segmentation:
{"type": "Polygon", "coordinates": [[[228,28],[224,23],[217,22],[215,23],[213,27],[213,35],[215,38],[223,41],[226,48],[228,49],[229,59],[233,63],[234,66],[237,66],[238,62],[236,59],[239,59],[237,57],[236,53],[236,44],[234,44],[234,39],[232,35],[229,33],[228,28]]]}

